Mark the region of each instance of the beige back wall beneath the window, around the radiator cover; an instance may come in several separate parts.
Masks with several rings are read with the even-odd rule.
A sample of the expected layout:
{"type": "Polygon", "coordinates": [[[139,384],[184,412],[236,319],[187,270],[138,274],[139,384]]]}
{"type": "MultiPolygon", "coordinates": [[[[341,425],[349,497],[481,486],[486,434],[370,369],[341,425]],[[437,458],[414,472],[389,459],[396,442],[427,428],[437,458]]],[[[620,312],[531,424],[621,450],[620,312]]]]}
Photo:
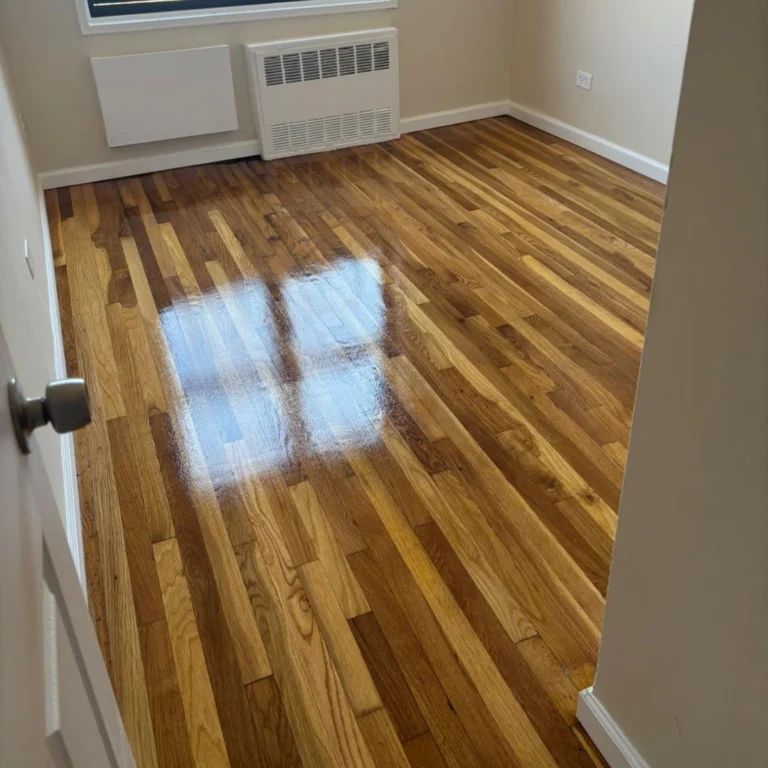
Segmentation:
{"type": "Polygon", "coordinates": [[[255,137],[242,46],[247,42],[396,26],[401,112],[412,117],[509,96],[509,0],[401,0],[357,12],[155,31],[80,33],[75,0],[0,0],[4,44],[41,171],[255,137]],[[240,130],[110,149],[90,56],[230,43],[240,130]]]}

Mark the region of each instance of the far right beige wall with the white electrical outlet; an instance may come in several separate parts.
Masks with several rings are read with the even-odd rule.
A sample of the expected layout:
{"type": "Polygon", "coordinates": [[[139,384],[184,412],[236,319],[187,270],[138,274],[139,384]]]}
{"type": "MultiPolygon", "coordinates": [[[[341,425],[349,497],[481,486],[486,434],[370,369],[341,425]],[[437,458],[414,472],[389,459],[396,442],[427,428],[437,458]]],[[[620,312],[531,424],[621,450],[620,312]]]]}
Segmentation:
{"type": "Polygon", "coordinates": [[[512,101],[668,163],[693,0],[512,2],[512,101]]]}

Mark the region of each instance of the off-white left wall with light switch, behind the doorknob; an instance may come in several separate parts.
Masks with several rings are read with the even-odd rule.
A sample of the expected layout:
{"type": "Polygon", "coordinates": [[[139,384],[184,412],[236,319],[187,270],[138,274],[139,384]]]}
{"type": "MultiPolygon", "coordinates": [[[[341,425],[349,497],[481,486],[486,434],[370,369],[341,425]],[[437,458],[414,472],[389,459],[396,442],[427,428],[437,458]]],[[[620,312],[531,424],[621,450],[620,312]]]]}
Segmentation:
{"type": "MultiPolygon", "coordinates": [[[[29,162],[0,51],[0,325],[28,397],[56,378],[54,330],[37,175],[29,162]],[[35,262],[24,261],[24,238],[35,262]]],[[[58,331],[58,328],[57,328],[58,331]]],[[[0,382],[5,397],[5,382],[0,382]]],[[[35,434],[56,503],[64,512],[62,441],[52,429],[35,434]]]]}

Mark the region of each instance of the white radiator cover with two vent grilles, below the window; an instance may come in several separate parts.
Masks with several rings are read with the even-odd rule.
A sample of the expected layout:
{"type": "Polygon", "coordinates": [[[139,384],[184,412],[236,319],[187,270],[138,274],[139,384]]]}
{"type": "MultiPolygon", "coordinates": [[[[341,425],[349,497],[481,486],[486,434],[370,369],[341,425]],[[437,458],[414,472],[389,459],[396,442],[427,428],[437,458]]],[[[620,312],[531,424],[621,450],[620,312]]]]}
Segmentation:
{"type": "Polygon", "coordinates": [[[396,29],[257,43],[246,56],[265,159],[399,137],[396,29]]]}

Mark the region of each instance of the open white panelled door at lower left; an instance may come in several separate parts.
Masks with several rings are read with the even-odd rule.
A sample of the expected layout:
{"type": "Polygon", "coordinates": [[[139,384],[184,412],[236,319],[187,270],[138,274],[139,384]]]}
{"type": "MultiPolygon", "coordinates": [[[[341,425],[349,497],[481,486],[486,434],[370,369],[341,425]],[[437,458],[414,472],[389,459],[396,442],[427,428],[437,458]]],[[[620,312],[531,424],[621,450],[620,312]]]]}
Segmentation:
{"type": "Polygon", "coordinates": [[[0,768],[128,768],[48,477],[34,437],[29,455],[16,440],[7,395],[14,376],[0,326],[0,768]]]}

